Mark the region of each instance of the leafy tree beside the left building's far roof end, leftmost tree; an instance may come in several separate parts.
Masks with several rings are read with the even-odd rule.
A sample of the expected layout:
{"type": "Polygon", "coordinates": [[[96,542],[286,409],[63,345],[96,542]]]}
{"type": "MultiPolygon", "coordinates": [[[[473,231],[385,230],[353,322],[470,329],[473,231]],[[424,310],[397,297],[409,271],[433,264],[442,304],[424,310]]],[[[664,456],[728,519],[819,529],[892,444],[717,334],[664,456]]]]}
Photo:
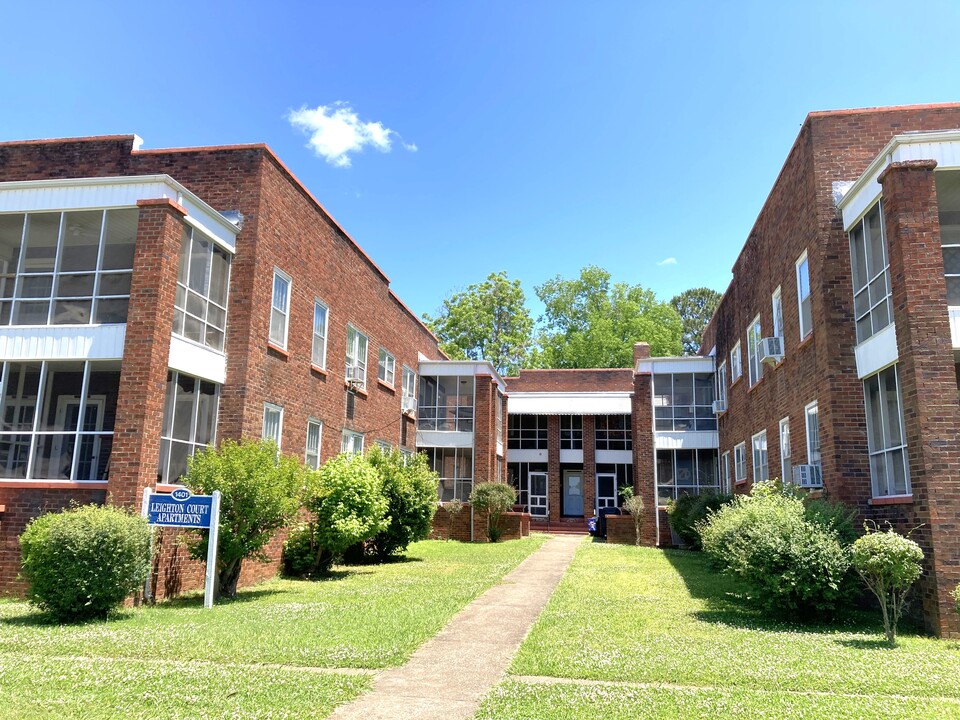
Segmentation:
{"type": "Polygon", "coordinates": [[[524,365],[533,342],[533,319],[519,280],[491,273],[443,301],[437,317],[423,319],[454,360],[489,360],[501,374],[524,365]]]}

